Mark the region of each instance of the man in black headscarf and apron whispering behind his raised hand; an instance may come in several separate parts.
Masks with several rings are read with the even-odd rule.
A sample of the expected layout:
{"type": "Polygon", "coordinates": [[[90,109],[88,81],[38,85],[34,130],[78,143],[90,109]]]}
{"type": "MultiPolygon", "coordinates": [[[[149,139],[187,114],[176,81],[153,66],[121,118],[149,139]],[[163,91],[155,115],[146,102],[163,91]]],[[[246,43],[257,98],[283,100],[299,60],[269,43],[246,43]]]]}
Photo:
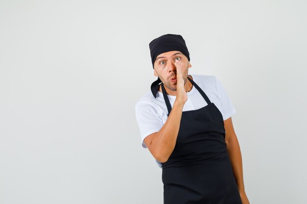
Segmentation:
{"type": "Polygon", "coordinates": [[[188,75],[182,36],[162,35],[149,45],[158,79],[135,113],[142,146],[162,168],[164,204],[249,204],[230,117],[235,109],[221,82],[188,75]]]}

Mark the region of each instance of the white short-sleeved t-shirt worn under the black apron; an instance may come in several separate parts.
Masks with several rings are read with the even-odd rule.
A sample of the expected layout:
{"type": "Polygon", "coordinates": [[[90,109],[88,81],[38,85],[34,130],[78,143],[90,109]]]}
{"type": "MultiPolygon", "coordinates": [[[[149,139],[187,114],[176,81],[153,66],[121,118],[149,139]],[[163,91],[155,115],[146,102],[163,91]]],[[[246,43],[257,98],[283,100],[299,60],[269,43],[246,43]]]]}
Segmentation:
{"type": "MultiPolygon", "coordinates": [[[[230,101],[230,98],[222,85],[222,83],[213,75],[197,75],[190,74],[193,81],[205,92],[210,101],[220,110],[223,119],[230,118],[236,111],[230,101]]],[[[201,93],[192,87],[187,92],[188,99],[183,106],[184,111],[192,111],[200,109],[207,105],[201,93]]],[[[171,106],[173,108],[176,96],[168,95],[171,106]]],[[[163,98],[163,93],[158,91],[154,98],[152,91],[148,91],[135,104],[135,116],[140,129],[141,145],[147,148],[144,138],[152,133],[158,132],[165,124],[168,116],[168,110],[163,98]]],[[[156,160],[156,159],[155,159],[156,160]]],[[[161,162],[156,160],[161,168],[161,162]]]]}

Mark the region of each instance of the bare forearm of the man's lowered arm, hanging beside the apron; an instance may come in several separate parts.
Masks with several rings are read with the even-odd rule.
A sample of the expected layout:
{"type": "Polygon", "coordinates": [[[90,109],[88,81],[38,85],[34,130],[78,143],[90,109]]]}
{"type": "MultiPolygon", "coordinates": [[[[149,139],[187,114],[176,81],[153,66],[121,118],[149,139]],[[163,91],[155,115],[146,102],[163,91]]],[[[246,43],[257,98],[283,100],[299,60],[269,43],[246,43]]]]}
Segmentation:
{"type": "Polygon", "coordinates": [[[240,145],[236,136],[232,136],[227,142],[227,151],[232,165],[233,175],[239,191],[245,191],[243,182],[243,165],[240,145]]]}

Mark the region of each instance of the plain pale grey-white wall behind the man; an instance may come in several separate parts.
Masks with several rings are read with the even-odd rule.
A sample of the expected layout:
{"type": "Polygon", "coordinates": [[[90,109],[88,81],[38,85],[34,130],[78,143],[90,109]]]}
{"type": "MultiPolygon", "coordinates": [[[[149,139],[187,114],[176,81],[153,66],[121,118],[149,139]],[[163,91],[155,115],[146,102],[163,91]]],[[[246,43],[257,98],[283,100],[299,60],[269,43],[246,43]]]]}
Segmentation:
{"type": "Polygon", "coordinates": [[[149,43],[215,75],[251,204],[307,203],[305,0],[0,0],[0,204],[162,204],[134,105],[149,43]]]}

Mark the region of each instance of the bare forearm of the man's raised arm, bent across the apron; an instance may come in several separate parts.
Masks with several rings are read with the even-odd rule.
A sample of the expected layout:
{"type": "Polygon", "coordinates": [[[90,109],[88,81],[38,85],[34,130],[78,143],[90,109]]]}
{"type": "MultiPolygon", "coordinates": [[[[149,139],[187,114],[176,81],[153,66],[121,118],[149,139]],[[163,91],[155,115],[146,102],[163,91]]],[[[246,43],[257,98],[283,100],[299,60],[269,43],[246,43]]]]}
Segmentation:
{"type": "Polygon", "coordinates": [[[175,148],[183,105],[175,100],[165,124],[152,139],[151,146],[160,162],[166,162],[175,148]]]}

